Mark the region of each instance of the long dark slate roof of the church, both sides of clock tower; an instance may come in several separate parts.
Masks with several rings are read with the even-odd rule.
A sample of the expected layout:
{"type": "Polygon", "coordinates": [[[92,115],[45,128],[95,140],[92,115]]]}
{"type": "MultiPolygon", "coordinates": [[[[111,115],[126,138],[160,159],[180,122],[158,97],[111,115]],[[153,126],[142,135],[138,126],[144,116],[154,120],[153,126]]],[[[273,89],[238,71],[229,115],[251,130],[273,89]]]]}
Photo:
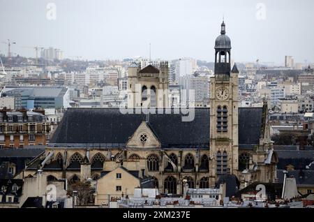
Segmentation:
{"type": "MultiPolygon", "coordinates": [[[[182,121],[183,114],[171,112],[149,114],[149,127],[162,147],[209,147],[209,108],[195,108],[193,121],[182,121]]],[[[117,108],[70,108],[50,143],[125,145],[145,119],[144,113],[122,114],[117,108]]],[[[239,108],[239,144],[259,144],[261,127],[262,108],[239,108]]]]}

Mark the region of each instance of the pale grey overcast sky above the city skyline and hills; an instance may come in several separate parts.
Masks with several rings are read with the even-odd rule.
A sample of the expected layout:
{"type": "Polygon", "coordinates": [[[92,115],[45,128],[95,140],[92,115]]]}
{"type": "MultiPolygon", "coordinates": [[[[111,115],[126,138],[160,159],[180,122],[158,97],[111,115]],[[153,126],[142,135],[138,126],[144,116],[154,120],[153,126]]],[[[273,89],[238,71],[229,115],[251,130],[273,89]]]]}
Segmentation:
{"type": "Polygon", "coordinates": [[[234,61],[314,62],[313,0],[0,0],[0,41],[16,41],[12,51],[27,57],[35,52],[23,45],[70,58],[148,57],[151,43],[153,59],[213,61],[223,15],[234,61]],[[56,20],[47,19],[50,2],[56,20]]]}

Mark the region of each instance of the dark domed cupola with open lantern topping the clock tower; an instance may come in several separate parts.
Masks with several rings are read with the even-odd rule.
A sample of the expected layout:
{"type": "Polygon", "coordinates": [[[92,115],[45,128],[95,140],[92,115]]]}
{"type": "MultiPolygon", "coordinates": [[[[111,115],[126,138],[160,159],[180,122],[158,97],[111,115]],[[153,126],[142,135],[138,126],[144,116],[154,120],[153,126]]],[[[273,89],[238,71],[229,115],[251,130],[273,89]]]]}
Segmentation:
{"type": "Polygon", "coordinates": [[[225,34],[225,22],[221,24],[220,36],[215,41],[215,74],[230,75],[231,40],[225,34]]]}

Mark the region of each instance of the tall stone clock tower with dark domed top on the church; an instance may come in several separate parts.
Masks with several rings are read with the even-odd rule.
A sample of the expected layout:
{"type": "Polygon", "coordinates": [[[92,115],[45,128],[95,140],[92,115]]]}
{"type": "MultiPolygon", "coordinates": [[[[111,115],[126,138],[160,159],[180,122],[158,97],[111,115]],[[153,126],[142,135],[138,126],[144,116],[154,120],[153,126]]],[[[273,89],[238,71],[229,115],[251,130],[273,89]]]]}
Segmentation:
{"type": "Polygon", "coordinates": [[[231,70],[231,40],[225,22],[215,43],[215,75],[210,80],[210,184],[238,170],[238,74],[231,70]]]}

